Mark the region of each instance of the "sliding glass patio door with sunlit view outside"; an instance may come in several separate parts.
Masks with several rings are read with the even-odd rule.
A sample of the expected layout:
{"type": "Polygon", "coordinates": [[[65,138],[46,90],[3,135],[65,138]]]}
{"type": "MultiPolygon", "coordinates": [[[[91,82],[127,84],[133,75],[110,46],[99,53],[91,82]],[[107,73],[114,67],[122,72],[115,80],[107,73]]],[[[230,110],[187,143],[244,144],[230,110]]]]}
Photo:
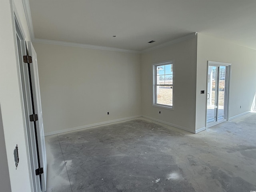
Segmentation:
{"type": "Polygon", "coordinates": [[[230,66],[208,61],[206,128],[227,120],[230,66]]]}

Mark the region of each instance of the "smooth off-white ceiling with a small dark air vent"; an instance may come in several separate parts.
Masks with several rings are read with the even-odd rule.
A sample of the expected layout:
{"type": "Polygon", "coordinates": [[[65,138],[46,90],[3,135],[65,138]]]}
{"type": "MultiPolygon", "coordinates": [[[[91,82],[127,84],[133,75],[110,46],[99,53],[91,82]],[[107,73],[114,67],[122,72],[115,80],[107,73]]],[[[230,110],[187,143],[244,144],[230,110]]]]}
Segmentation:
{"type": "Polygon", "coordinates": [[[199,32],[256,50],[256,0],[29,0],[29,5],[32,39],[142,51],[199,32]]]}

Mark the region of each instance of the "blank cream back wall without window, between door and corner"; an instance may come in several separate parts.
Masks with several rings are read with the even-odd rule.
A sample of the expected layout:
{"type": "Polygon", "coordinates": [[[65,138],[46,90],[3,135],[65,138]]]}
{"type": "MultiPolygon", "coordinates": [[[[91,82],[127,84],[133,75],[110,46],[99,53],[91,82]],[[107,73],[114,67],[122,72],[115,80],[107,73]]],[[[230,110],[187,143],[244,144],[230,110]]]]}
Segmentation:
{"type": "Polygon", "coordinates": [[[46,135],[141,115],[139,54],[33,45],[46,135]]]}

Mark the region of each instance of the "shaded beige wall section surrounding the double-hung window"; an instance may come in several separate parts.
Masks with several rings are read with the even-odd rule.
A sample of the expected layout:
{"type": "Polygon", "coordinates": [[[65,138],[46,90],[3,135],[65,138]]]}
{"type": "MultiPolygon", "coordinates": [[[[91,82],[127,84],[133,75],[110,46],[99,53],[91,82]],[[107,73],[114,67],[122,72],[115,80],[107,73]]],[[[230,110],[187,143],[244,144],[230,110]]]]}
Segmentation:
{"type": "Polygon", "coordinates": [[[141,55],[142,114],[195,131],[197,37],[141,55]],[[152,64],[174,59],[174,110],[152,106],[152,64]],[[161,114],[159,114],[161,111],[161,114]]]}

